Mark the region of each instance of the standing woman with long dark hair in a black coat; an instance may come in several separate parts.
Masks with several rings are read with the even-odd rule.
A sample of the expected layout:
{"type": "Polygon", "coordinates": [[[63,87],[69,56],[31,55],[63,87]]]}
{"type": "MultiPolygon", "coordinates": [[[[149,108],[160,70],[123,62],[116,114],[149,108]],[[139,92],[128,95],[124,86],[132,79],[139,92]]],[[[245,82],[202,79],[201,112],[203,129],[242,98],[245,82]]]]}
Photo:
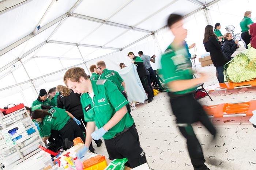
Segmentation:
{"type": "Polygon", "coordinates": [[[219,83],[224,82],[224,65],[229,61],[221,50],[221,39],[217,41],[217,36],[213,32],[213,27],[207,25],[204,30],[204,47],[210,52],[213,65],[216,67],[216,76],[219,83]]]}

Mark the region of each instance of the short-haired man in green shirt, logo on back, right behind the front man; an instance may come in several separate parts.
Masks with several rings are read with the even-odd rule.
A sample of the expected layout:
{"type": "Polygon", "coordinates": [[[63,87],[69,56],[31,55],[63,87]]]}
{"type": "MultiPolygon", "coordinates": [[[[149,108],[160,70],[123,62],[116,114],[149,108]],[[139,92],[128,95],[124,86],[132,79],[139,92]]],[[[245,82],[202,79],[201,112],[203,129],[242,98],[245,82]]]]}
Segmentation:
{"type": "MultiPolygon", "coordinates": [[[[104,61],[98,61],[97,62],[97,67],[98,67],[98,73],[100,73],[101,75],[99,76],[99,80],[110,80],[113,81],[114,84],[117,85],[118,90],[124,95],[124,97],[126,98],[126,100],[128,100],[127,98],[127,92],[125,91],[125,82],[123,80],[123,78],[119,75],[118,72],[114,71],[114,70],[108,70],[106,69],[106,64],[104,61]]],[[[126,105],[126,108],[128,110],[128,113],[131,113],[131,108],[129,103],[126,105]]]]}

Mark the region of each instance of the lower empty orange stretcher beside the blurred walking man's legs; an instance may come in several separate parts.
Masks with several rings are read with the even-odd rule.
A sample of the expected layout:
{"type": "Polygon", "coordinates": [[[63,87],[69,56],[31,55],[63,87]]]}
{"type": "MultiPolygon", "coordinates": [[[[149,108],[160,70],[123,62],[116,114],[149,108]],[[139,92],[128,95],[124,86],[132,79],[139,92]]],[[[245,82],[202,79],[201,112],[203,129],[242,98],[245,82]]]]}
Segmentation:
{"type": "Polygon", "coordinates": [[[252,111],[256,110],[256,100],[203,106],[203,108],[209,117],[252,116],[252,111]]]}

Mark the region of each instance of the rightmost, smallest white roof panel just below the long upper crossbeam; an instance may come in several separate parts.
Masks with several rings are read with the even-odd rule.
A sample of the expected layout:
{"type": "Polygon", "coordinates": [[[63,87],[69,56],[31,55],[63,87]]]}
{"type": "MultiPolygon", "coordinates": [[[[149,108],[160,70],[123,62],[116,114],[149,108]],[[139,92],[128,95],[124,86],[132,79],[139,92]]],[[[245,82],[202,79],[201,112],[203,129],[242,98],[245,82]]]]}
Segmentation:
{"type": "Polygon", "coordinates": [[[139,31],[132,31],[129,30],[125,32],[123,35],[119,36],[112,42],[106,44],[108,47],[116,47],[116,48],[123,48],[127,45],[129,45],[132,42],[135,42],[136,40],[142,38],[143,36],[147,35],[145,32],[139,32],[139,31]]]}

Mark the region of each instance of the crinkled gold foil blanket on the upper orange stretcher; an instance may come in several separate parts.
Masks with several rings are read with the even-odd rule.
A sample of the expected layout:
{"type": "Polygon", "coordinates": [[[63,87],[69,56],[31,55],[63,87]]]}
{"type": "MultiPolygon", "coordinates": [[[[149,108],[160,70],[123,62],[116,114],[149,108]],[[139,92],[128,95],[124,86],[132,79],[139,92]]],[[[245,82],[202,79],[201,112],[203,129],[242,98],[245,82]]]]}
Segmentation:
{"type": "Polygon", "coordinates": [[[238,53],[224,66],[226,80],[240,83],[256,78],[256,49],[249,49],[238,53]]]}

